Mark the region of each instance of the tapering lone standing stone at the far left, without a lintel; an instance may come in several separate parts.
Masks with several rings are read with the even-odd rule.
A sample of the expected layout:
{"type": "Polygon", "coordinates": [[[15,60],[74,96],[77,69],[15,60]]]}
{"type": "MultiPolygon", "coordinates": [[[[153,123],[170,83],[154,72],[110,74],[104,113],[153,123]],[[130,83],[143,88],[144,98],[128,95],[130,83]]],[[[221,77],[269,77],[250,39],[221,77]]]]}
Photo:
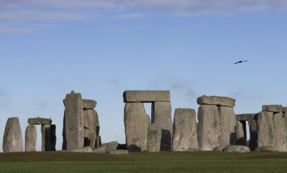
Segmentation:
{"type": "Polygon", "coordinates": [[[23,139],[18,117],[8,118],[2,147],[3,152],[23,152],[23,139]]]}

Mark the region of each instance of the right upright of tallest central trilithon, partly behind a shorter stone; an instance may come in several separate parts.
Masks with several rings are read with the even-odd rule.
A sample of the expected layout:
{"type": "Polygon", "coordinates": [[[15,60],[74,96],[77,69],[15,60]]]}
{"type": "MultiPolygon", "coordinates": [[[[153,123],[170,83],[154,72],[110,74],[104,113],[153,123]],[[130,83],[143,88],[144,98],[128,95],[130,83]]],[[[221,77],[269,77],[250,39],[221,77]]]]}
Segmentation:
{"type": "Polygon", "coordinates": [[[161,128],[161,150],[172,150],[173,124],[170,102],[152,102],[152,124],[161,128]]]}

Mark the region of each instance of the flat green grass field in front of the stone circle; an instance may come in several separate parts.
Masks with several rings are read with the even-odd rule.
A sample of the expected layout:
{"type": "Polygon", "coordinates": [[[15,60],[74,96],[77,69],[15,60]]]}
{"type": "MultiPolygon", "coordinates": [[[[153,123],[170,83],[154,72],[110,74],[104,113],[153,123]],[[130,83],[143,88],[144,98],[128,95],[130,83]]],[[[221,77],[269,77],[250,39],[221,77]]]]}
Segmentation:
{"type": "Polygon", "coordinates": [[[0,153],[0,172],[287,172],[284,152],[0,153]]]}

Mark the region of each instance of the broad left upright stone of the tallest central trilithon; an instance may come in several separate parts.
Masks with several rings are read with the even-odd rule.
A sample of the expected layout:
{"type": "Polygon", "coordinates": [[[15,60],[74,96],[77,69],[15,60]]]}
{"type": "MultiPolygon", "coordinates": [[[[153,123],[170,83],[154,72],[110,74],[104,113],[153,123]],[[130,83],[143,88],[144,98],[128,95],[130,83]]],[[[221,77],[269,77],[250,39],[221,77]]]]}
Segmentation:
{"type": "Polygon", "coordinates": [[[126,103],[124,109],[124,124],[128,151],[146,151],[148,126],[150,120],[146,115],[143,103],[126,103]]]}

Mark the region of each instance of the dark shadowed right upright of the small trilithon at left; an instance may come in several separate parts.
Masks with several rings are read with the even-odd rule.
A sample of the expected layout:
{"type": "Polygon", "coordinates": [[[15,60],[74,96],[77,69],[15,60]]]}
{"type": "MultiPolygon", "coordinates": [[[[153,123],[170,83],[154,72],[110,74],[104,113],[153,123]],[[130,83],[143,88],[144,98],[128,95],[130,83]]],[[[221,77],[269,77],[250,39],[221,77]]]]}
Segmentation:
{"type": "Polygon", "coordinates": [[[55,124],[43,124],[41,126],[42,133],[42,151],[56,150],[56,126],[55,124]]]}

